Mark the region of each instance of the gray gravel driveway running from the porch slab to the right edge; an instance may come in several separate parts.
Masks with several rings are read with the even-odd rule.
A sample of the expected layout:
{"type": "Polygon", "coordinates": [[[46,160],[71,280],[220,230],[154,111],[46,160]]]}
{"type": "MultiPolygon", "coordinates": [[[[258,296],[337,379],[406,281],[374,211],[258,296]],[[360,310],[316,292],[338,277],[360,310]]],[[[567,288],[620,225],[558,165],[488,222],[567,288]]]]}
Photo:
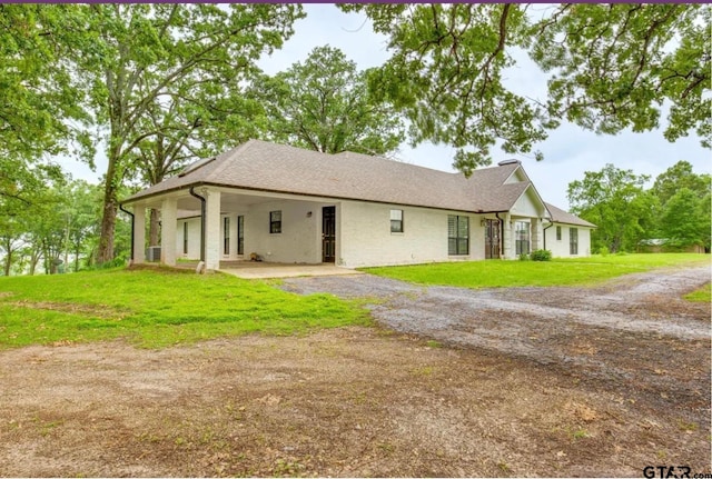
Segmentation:
{"type": "Polygon", "coordinates": [[[374,318],[396,331],[495,350],[646,399],[652,391],[663,400],[675,395],[696,401],[710,391],[710,305],[681,296],[710,276],[709,267],[695,267],[629,275],[594,288],[474,290],[363,275],[286,279],[283,288],[377,298],[374,318]]]}

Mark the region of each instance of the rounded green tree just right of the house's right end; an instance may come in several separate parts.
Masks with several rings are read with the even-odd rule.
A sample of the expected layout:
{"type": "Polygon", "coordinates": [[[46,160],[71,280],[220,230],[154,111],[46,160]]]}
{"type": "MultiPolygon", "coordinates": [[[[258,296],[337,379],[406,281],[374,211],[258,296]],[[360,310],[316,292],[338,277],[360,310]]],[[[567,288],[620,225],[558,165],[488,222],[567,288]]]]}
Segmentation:
{"type": "Polygon", "coordinates": [[[647,180],[645,174],[609,163],[568,183],[572,212],[597,226],[591,234],[594,251],[602,247],[612,252],[630,251],[645,237],[656,209],[655,197],[643,189],[647,180]]]}

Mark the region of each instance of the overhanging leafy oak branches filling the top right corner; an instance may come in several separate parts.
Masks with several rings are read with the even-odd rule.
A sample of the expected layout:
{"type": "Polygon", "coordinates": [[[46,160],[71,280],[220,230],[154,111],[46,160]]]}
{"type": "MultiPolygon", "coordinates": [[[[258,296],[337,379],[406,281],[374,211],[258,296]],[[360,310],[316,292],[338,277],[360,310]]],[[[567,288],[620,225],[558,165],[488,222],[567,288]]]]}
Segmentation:
{"type": "Polygon", "coordinates": [[[533,26],[532,58],[548,82],[548,112],[617,133],[696,131],[710,148],[711,13],[700,4],[562,4],[533,26]],[[563,40],[563,41],[562,41],[563,40]]]}

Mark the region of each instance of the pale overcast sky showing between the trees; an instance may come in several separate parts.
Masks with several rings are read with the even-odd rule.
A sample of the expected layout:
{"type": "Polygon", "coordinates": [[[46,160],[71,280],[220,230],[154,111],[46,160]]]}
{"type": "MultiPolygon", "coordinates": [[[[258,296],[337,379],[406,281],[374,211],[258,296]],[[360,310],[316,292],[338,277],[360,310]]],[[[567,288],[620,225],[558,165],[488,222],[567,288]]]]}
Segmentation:
{"type": "MultiPolygon", "coordinates": [[[[305,11],[307,17],[295,23],[295,34],[284,47],[259,61],[266,73],[286,70],[293,63],[304,61],[314,48],[325,44],[339,48],[359,69],[383,64],[389,57],[386,37],[375,33],[364,14],[344,13],[328,3],[305,4],[305,11]]],[[[505,84],[514,92],[541,100],[545,98],[546,78],[531,60],[523,58],[506,77],[505,84]]],[[[495,163],[511,158],[521,160],[544,201],[563,209],[568,208],[568,183],[583,179],[586,171],[600,171],[606,163],[633,170],[635,174],[649,174],[651,184],[657,174],[680,160],[692,163],[696,173],[712,173],[712,152],[700,146],[699,138],[691,136],[671,143],[663,138],[662,129],[597,136],[563,123],[535,149],[544,153],[543,161],[534,160],[533,154],[508,154],[500,149],[493,149],[492,154],[495,163]]],[[[395,157],[422,167],[455,171],[452,168],[454,152],[447,146],[425,143],[413,149],[404,144],[395,157]]],[[[97,166],[97,173],[93,173],[80,163],[65,164],[75,178],[88,181],[98,180],[106,169],[106,158],[103,161],[99,158],[97,166]]]]}

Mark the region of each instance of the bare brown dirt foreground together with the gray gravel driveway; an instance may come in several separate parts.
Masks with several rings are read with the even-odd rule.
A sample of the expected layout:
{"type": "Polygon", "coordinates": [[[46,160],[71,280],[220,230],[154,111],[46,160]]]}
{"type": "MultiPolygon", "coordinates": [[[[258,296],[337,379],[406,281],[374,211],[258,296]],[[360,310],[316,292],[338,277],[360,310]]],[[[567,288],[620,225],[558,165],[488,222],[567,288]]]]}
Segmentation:
{"type": "Polygon", "coordinates": [[[710,307],[679,300],[709,280],[709,268],[595,289],[290,279],[378,297],[382,326],[1,351],[0,475],[710,472],[710,307]]]}

